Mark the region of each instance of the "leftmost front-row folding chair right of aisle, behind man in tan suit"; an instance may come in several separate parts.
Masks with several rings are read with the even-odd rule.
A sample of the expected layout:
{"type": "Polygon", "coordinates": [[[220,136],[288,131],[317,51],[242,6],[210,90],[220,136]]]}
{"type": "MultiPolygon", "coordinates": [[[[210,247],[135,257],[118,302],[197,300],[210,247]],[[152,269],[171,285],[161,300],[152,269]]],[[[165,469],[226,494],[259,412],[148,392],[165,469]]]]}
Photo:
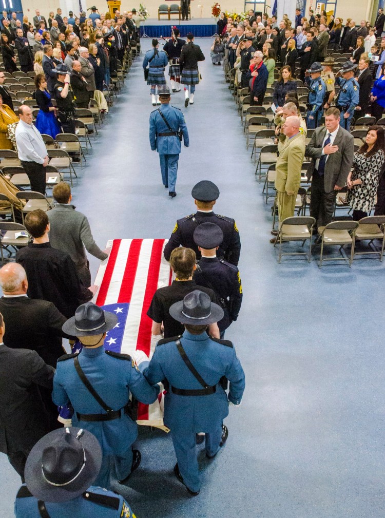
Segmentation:
{"type": "Polygon", "coordinates": [[[279,243],[278,263],[281,262],[282,255],[307,255],[307,262],[311,260],[311,238],[313,227],[316,224],[315,218],[310,216],[294,216],[282,221],[278,228],[278,235],[275,238],[274,247],[279,243]],[[282,253],[282,243],[288,241],[302,241],[302,247],[309,240],[308,252],[284,252],[282,253]]]}

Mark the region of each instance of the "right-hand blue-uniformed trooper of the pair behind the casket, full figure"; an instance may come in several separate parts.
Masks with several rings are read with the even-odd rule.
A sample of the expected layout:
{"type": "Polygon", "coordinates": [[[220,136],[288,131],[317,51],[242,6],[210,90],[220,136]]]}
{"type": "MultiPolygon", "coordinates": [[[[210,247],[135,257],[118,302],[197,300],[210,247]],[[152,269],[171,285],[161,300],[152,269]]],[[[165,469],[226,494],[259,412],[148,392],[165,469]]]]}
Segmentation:
{"type": "Polygon", "coordinates": [[[174,473],[196,496],[201,488],[196,456],[196,434],[206,434],[206,456],[213,458],[229,434],[223,420],[230,405],[240,405],[245,373],[232,342],[211,338],[206,329],[223,317],[210,297],[195,290],[173,304],[170,315],[184,324],[182,336],[159,340],[144,368],[149,383],[163,382],[164,423],[170,428],[177,464],[174,473]],[[230,381],[229,395],[224,391],[230,381]]]}

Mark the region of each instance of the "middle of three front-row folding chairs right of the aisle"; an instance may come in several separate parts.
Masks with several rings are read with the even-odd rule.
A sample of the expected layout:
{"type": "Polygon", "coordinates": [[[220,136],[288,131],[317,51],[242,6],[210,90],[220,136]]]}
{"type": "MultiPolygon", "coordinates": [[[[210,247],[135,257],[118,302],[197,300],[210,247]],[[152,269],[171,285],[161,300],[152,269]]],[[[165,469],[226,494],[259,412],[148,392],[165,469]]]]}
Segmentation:
{"type": "Polygon", "coordinates": [[[348,261],[351,267],[354,255],[355,232],[358,227],[358,221],[332,221],[324,227],[318,227],[319,236],[315,244],[321,243],[321,255],[319,267],[322,267],[324,261],[348,261]],[[351,245],[350,257],[344,257],[343,249],[346,244],[351,245]],[[339,252],[342,257],[326,257],[323,258],[324,246],[339,246],[339,252]]]}

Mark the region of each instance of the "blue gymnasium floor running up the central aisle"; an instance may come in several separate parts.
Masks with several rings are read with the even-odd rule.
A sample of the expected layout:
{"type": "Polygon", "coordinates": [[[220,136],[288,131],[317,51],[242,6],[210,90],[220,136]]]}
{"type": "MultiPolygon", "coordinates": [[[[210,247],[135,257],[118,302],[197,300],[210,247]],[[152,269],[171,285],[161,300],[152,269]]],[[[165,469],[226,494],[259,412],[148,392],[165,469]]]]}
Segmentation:
{"type": "MultiPolygon", "coordinates": [[[[218,213],[235,218],[242,251],[243,308],[226,333],[246,371],[229,440],[211,462],[199,453],[201,494],[173,475],[170,437],[140,429],[142,463],[124,496],[137,518],[380,518],[384,495],[384,264],[376,259],[277,263],[270,210],[255,181],[240,120],[210,39],[195,104],[183,111],[191,146],[182,149],[177,197],[161,183],[148,143],[149,88],[141,59],[93,144],[74,187],[101,247],[110,238],[165,238],[194,210],[191,188],[215,181],[218,213]]],[[[150,41],[142,40],[144,50],[150,41]]],[[[172,104],[183,106],[183,94],[172,104]]],[[[80,169],[80,168],[79,168],[80,169]]],[[[93,275],[97,261],[91,258],[93,275]]],[[[0,454],[0,516],[10,518],[19,480],[0,454]]],[[[27,517],[26,517],[27,518],[27,517]]]]}

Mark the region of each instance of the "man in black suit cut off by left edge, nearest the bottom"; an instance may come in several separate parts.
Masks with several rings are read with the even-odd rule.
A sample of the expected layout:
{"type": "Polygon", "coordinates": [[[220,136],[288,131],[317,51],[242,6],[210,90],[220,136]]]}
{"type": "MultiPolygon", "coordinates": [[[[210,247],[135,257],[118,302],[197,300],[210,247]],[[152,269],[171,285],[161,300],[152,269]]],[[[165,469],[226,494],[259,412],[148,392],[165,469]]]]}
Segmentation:
{"type": "MultiPolygon", "coordinates": [[[[4,345],[0,314],[0,451],[24,482],[24,467],[35,443],[48,431],[48,414],[37,385],[52,390],[55,369],[36,351],[4,345]]],[[[28,344],[28,335],[25,336],[28,344]]]]}

